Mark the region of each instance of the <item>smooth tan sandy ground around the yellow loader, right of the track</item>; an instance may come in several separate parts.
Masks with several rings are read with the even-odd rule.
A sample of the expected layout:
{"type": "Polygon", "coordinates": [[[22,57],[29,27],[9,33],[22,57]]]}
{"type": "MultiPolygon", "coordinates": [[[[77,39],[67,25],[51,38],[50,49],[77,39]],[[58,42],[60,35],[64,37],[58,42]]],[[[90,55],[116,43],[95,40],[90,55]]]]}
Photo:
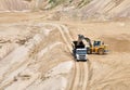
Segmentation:
{"type": "Polygon", "coordinates": [[[89,55],[89,80],[87,90],[129,90],[130,23],[89,23],[70,27],[72,35],[78,33],[108,44],[107,55],[89,55]]]}

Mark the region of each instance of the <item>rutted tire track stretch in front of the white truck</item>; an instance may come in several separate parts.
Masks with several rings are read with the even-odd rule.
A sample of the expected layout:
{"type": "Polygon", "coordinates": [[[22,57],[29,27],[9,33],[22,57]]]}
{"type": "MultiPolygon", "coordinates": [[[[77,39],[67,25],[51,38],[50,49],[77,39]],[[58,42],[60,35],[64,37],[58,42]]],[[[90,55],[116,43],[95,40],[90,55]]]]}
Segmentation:
{"type": "Polygon", "coordinates": [[[75,78],[72,81],[69,90],[87,90],[88,82],[88,63],[76,62],[75,63],[75,78]]]}

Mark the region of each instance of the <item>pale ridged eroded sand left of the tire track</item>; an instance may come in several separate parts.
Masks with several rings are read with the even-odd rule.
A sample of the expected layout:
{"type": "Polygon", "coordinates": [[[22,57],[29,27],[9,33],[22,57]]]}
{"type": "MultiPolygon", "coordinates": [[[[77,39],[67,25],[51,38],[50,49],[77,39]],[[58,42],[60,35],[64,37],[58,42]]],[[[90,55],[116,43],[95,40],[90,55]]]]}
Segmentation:
{"type": "MultiPolygon", "coordinates": [[[[5,27],[8,25],[4,24],[5,27]]],[[[62,40],[58,29],[39,23],[31,26],[27,23],[23,23],[22,26],[17,25],[16,23],[11,24],[10,26],[14,29],[9,27],[9,34],[5,33],[6,30],[5,34],[1,30],[1,55],[3,52],[5,53],[0,61],[0,89],[65,89],[68,82],[66,74],[70,73],[73,61],[69,61],[72,59],[67,56],[67,47],[62,40]],[[25,27],[27,31],[21,27],[25,27]],[[9,49],[4,49],[5,44],[12,46],[13,49],[10,50],[10,46],[9,49]],[[57,66],[58,64],[61,65],[57,66]],[[52,88],[55,82],[58,86],[52,88]]],[[[4,27],[1,26],[1,29],[4,27]]]]}

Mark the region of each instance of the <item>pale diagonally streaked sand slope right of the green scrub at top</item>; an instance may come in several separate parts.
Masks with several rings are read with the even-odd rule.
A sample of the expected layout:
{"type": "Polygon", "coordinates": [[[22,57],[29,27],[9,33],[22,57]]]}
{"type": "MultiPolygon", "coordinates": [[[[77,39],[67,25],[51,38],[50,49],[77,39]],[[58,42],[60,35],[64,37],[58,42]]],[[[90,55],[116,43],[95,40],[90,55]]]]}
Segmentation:
{"type": "Polygon", "coordinates": [[[126,17],[130,16],[129,0],[93,0],[81,12],[84,16],[126,17]]]}

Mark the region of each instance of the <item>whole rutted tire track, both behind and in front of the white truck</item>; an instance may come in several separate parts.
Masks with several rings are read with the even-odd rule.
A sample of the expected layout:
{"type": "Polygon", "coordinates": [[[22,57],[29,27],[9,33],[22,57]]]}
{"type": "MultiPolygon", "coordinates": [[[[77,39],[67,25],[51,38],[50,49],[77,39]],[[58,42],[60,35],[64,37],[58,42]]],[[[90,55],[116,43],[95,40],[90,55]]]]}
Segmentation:
{"type": "MultiPolygon", "coordinates": [[[[57,28],[61,33],[63,40],[67,44],[69,52],[72,53],[72,41],[74,40],[69,34],[68,28],[65,25],[43,23],[43,25],[51,25],[57,28]]],[[[88,63],[87,62],[74,62],[73,78],[70,79],[67,90],[86,90],[88,81],[88,63]]]]}

